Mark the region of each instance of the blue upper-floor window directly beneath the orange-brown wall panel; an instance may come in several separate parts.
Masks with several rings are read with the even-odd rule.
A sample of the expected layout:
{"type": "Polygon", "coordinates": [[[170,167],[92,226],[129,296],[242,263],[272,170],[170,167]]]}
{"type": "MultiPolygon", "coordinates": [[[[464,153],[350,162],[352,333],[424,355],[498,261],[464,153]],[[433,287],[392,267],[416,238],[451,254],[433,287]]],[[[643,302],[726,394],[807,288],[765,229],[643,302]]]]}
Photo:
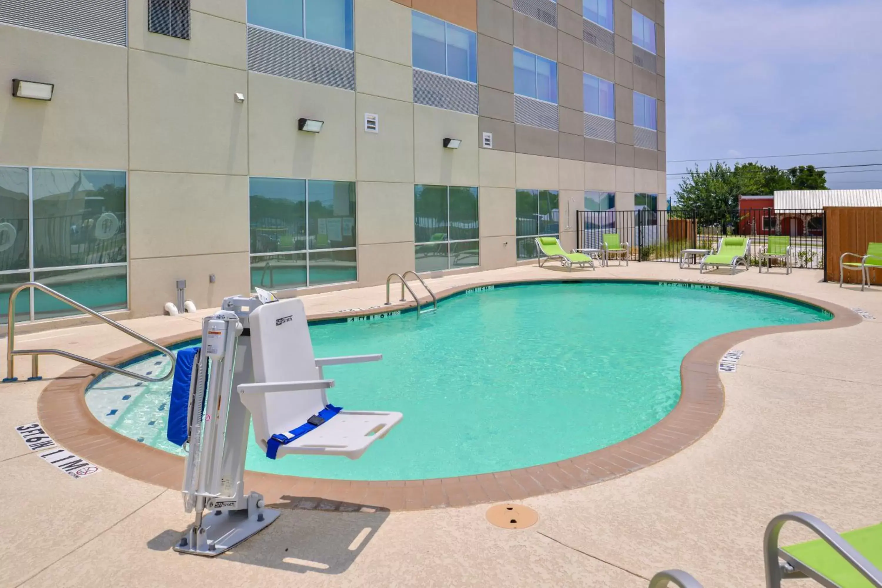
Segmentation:
{"type": "Polygon", "coordinates": [[[478,35],[422,12],[413,12],[414,67],[478,81],[478,35]]]}

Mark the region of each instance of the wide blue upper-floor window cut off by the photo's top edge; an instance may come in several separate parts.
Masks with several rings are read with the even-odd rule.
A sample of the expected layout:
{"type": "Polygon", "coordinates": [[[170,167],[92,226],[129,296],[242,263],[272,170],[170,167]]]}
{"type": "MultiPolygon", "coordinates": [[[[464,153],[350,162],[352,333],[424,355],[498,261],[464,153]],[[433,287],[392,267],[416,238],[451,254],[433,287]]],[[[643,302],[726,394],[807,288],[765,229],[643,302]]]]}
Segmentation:
{"type": "Polygon", "coordinates": [[[352,0],[248,0],[248,23],[353,48],[352,0]]]}

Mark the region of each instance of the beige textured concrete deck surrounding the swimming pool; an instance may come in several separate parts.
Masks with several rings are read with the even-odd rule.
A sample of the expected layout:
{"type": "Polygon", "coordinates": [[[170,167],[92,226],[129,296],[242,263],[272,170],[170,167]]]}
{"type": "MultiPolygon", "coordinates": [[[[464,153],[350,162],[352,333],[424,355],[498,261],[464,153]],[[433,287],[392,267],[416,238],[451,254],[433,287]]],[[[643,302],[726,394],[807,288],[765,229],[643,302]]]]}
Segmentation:
{"type": "MultiPolygon", "coordinates": [[[[639,471],[516,501],[539,513],[539,522],[528,529],[490,525],[487,503],[347,512],[332,501],[316,500],[308,508],[297,496],[291,499],[297,508],[283,510],[267,530],[213,560],[171,551],[192,522],[176,490],[109,469],[74,480],[27,450],[15,427],[37,421],[38,398],[50,378],[76,367],[64,358],[42,357],[46,380],[0,385],[5,474],[0,488],[7,495],[0,514],[0,585],[638,587],[655,571],[674,567],[690,571],[708,588],[759,587],[762,532],[774,515],[804,510],[843,531],[880,520],[882,288],[863,293],[859,287],[839,288],[809,270],[786,276],[754,268],[735,276],[699,276],[694,269],[658,263],[614,264],[596,272],[520,266],[432,279],[430,286],[443,291],[577,277],[767,288],[859,307],[876,318],[739,343],[744,356],[735,373],[719,375],[725,406],[706,435],[639,471]],[[368,527],[367,540],[350,545],[368,527]]],[[[385,301],[385,287],[312,294],[303,301],[310,316],[364,309],[385,301]]],[[[176,337],[198,329],[204,314],[125,324],[153,339],[176,337]]],[[[103,325],[38,332],[17,342],[89,357],[131,346],[131,339],[103,325]]],[[[5,343],[0,339],[2,353],[5,343]]],[[[28,363],[17,360],[17,376],[26,376],[28,363]]],[[[5,364],[0,375],[4,370],[5,364]]],[[[323,498],[321,488],[314,490],[314,498],[323,498]]],[[[785,529],[783,539],[803,537],[785,529]]]]}

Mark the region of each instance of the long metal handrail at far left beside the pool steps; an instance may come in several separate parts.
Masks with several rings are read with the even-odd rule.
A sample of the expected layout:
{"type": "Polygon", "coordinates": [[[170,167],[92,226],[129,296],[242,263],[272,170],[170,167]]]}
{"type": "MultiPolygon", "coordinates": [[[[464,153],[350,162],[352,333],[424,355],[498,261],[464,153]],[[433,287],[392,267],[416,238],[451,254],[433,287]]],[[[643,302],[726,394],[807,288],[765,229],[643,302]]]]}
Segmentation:
{"type": "Polygon", "coordinates": [[[101,313],[96,312],[93,309],[90,309],[86,306],[83,306],[78,301],[71,300],[64,294],[56,292],[50,287],[43,286],[40,282],[27,282],[26,284],[22,284],[16,289],[12,290],[12,293],[9,296],[9,314],[6,315],[8,318],[7,324],[7,333],[8,333],[8,345],[6,347],[6,377],[4,377],[4,383],[17,382],[19,378],[15,377],[13,371],[13,363],[16,355],[30,355],[31,356],[31,377],[27,378],[28,382],[33,382],[34,380],[41,380],[42,376],[39,376],[40,372],[40,356],[41,355],[60,355],[61,357],[66,357],[69,360],[79,361],[80,363],[85,363],[86,365],[92,366],[93,368],[100,368],[107,370],[109,372],[113,372],[115,374],[120,374],[121,376],[129,376],[141,382],[163,382],[168,380],[169,377],[174,373],[174,368],[168,370],[168,374],[162,377],[150,377],[150,376],[142,376],[141,374],[136,374],[133,371],[123,368],[117,368],[116,366],[108,365],[102,361],[90,360],[87,357],[82,357],[81,355],[71,354],[68,351],[62,351],[61,349],[16,349],[15,348],[15,299],[18,297],[19,292],[24,290],[25,288],[35,288],[40,290],[45,294],[49,294],[56,300],[63,301],[65,304],[73,307],[74,309],[78,309],[82,312],[85,312],[87,315],[94,316],[102,323],[109,324],[117,331],[123,331],[126,335],[134,337],[138,339],[141,343],[146,344],[147,346],[153,347],[153,349],[159,351],[161,354],[165,354],[169,360],[171,360],[172,366],[175,365],[175,354],[171,353],[167,348],[161,346],[156,341],[152,339],[147,339],[144,335],[141,335],[135,331],[132,331],[128,327],[124,327],[122,324],[117,323],[115,320],[108,318],[107,316],[101,315],[101,313]]]}

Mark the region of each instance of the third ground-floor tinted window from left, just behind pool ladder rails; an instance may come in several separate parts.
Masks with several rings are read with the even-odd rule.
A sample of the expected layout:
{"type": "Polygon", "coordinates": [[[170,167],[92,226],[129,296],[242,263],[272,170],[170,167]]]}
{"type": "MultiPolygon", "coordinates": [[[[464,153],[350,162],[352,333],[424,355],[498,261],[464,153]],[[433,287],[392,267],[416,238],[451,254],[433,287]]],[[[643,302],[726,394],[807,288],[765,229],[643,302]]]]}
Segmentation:
{"type": "Polygon", "coordinates": [[[417,272],[480,264],[478,189],[415,186],[414,239],[417,272]]]}

